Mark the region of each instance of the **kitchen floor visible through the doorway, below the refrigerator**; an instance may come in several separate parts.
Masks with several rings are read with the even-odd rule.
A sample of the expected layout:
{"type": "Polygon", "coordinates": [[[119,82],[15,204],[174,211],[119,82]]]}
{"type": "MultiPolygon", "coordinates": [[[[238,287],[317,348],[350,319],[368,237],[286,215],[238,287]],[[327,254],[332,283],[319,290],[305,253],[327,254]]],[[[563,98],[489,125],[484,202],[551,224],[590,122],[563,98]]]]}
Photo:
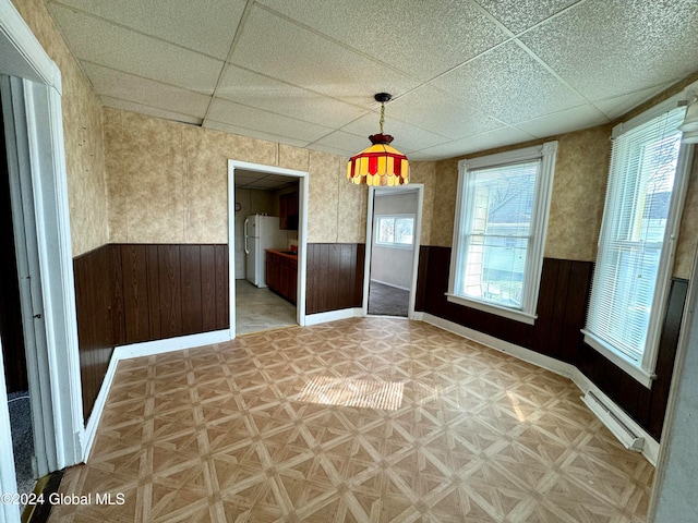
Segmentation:
{"type": "Polygon", "coordinates": [[[236,335],[289,325],[297,325],[294,305],[268,288],[258,289],[248,280],[236,280],[236,335]]]}

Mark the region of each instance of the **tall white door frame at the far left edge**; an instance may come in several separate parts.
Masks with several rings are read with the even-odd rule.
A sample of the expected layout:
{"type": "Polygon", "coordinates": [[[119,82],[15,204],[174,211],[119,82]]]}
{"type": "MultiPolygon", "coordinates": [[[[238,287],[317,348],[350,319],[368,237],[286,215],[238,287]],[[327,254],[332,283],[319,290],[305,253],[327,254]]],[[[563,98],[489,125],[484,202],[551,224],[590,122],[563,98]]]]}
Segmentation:
{"type": "MultiPolygon", "coordinates": [[[[0,56],[27,377],[44,475],[81,462],[85,435],[61,75],[10,0],[0,0],[0,56]]],[[[7,412],[2,387],[0,418],[7,412]]],[[[0,430],[0,447],[12,448],[7,429],[0,430]]],[[[10,492],[12,459],[0,460],[0,476],[10,492]]],[[[5,521],[19,521],[16,506],[0,503],[0,523],[5,521]]]]}

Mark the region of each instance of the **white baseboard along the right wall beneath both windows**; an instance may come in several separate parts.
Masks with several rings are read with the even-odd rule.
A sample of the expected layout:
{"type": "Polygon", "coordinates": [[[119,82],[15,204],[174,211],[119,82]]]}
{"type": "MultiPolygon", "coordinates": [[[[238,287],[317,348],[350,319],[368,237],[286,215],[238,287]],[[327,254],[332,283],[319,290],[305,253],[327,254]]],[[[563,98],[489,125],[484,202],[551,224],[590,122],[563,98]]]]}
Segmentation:
{"type": "Polygon", "coordinates": [[[555,360],[554,357],[545,356],[535,351],[531,351],[530,349],[525,349],[520,345],[516,345],[514,343],[509,343],[507,341],[500,340],[490,335],[485,335],[473,329],[469,329],[454,321],[449,321],[447,319],[440,318],[438,316],[432,316],[428,313],[421,313],[422,320],[440,327],[444,330],[448,330],[454,332],[455,335],[462,336],[464,338],[468,338],[470,340],[482,343],[483,345],[490,346],[496,351],[505,352],[507,354],[512,354],[519,360],[531,363],[539,367],[546,368],[555,374],[558,374],[563,377],[571,379],[571,381],[577,386],[577,388],[582,392],[582,396],[589,391],[592,391],[599,399],[601,399],[606,406],[609,406],[613,414],[621,419],[627,427],[631,428],[633,431],[643,438],[645,443],[642,446],[641,453],[647,461],[649,461],[652,465],[657,466],[657,459],[659,455],[660,445],[659,442],[652,438],[647,430],[645,430],[637,422],[635,422],[623,409],[621,409],[611,398],[604,394],[597,385],[594,385],[589,378],[587,378],[581,370],[569,363],[561,362],[555,360]]]}

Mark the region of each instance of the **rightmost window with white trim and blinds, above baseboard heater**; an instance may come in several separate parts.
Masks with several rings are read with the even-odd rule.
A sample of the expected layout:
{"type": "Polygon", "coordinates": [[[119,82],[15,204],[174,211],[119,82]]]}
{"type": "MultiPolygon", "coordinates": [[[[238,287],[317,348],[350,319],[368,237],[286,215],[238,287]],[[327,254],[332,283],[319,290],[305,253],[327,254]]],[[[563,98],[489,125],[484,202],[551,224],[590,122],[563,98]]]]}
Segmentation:
{"type": "MultiPolygon", "coordinates": [[[[674,105],[675,107],[675,105],[674,105]]],[[[685,179],[685,108],[613,132],[585,341],[650,386],[667,295],[685,179]],[[682,166],[679,168],[679,166],[682,166]]]]}

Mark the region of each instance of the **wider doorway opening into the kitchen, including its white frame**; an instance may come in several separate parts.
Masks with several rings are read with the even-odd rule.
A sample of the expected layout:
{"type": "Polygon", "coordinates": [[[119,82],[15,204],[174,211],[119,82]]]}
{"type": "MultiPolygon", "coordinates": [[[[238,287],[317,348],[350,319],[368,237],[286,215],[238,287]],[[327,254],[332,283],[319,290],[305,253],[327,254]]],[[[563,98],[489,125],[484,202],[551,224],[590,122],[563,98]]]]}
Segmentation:
{"type": "Polygon", "coordinates": [[[306,173],[229,161],[231,330],[303,325],[306,173]]]}

